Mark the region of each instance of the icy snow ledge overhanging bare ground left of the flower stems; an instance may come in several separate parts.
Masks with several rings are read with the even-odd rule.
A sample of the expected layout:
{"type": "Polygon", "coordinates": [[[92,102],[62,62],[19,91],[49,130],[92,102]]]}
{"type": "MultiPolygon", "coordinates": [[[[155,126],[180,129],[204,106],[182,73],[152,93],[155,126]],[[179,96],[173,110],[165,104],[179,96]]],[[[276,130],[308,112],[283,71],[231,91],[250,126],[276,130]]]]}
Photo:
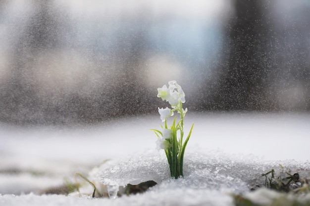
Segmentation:
{"type": "Polygon", "coordinates": [[[159,183],[169,177],[169,165],[165,156],[155,150],[108,161],[90,172],[91,179],[97,179],[107,185],[109,196],[112,198],[116,197],[119,186],[136,185],[149,180],[159,183]]]}

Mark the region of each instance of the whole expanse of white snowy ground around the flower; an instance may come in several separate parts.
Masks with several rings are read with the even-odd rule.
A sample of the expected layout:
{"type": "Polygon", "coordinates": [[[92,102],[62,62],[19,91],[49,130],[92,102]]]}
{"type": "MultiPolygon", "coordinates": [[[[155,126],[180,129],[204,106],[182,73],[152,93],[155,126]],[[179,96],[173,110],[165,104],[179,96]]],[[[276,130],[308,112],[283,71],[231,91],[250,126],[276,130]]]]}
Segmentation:
{"type": "Polygon", "coordinates": [[[187,132],[193,122],[185,178],[177,180],[169,178],[149,130],[159,128],[158,116],[71,128],[0,124],[0,206],[231,206],[229,193],[248,192],[263,182],[261,173],[278,164],[309,175],[310,114],[188,113],[187,132]],[[115,185],[158,184],[116,200],[39,195],[64,177],[72,180],[76,171],[115,185]]]}

